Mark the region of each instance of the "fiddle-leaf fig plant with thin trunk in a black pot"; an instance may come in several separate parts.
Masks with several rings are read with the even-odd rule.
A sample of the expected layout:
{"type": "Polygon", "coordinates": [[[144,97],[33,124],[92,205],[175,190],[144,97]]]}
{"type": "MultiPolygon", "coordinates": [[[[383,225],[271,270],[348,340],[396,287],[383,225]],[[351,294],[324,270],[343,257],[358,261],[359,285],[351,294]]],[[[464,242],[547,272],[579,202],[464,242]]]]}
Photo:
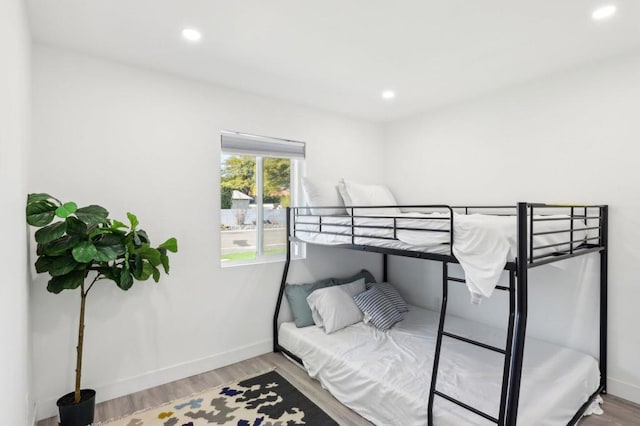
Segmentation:
{"type": "Polygon", "coordinates": [[[147,233],[138,229],[138,219],[127,213],[129,225],[109,219],[101,206],[78,208],[76,203],[61,203],[49,194],[29,194],[27,223],[36,228],[38,273],[50,276],[47,290],[80,291],[80,318],[76,346],[75,391],[57,401],[62,426],[86,426],[93,423],[95,391],[81,389],[82,350],[86,299],[94,284],[111,280],[122,290],[136,280],[160,279],[161,269],[169,273],[167,252],[178,251],[175,238],[152,247],[147,233]]]}

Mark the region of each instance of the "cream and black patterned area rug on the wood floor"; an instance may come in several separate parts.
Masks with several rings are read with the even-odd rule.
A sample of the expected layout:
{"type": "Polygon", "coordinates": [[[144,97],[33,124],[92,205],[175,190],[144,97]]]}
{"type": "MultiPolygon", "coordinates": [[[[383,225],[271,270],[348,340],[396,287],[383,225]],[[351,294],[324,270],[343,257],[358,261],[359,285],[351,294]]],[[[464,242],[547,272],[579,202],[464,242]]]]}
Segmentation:
{"type": "Polygon", "coordinates": [[[103,426],[337,425],[275,371],[203,391],[103,426]]]}

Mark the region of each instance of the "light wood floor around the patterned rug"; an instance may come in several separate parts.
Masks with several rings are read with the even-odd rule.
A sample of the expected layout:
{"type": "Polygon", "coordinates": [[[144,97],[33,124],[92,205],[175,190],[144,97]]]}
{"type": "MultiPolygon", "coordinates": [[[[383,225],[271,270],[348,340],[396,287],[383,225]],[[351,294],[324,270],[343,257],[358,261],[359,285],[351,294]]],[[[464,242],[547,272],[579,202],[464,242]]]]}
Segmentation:
{"type": "MultiPolygon", "coordinates": [[[[197,376],[103,402],[96,406],[95,420],[104,421],[145,408],[162,405],[171,400],[191,395],[194,392],[238,380],[273,367],[340,425],[359,426],[371,424],[340,404],[331,394],[322,389],[316,380],[311,379],[296,364],[287,360],[281,354],[275,353],[261,355],[197,376]]],[[[581,426],[640,425],[640,405],[610,395],[605,395],[604,400],[603,408],[605,414],[586,417],[580,422],[581,426]]],[[[38,426],[57,426],[56,419],[52,417],[41,420],[38,422],[38,426]]]]}

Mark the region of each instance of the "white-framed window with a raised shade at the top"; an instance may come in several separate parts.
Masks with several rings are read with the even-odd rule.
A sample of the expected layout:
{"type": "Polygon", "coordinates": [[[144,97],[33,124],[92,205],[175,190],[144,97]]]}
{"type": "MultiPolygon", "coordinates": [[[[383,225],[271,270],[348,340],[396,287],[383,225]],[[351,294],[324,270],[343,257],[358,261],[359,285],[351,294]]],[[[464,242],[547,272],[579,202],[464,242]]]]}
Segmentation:
{"type": "MultiPolygon", "coordinates": [[[[236,132],[221,140],[221,264],[284,259],[286,208],[299,204],[305,144],[236,132]]],[[[292,257],[303,250],[294,244],[292,257]]]]}

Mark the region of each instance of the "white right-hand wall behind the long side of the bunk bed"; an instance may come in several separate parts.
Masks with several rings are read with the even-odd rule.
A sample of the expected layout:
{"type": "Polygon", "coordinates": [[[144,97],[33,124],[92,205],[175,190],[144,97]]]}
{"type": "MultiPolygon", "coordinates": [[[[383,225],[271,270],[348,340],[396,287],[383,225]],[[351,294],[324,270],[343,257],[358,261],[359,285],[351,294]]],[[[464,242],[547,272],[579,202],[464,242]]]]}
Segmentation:
{"type": "MultiPolygon", "coordinates": [[[[387,131],[386,181],[402,203],[514,204],[518,201],[610,205],[609,390],[640,402],[640,55],[557,74],[393,123],[387,131]],[[402,171],[399,173],[398,171],[402,171]]],[[[576,260],[577,261],[577,260],[576,260]]],[[[588,265],[597,271],[597,259],[588,265]]],[[[440,297],[439,275],[425,264],[391,266],[405,292],[423,304],[440,297]],[[431,285],[416,290],[426,277],[431,285]],[[417,283],[420,284],[420,283],[417,283]]],[[[597,315],[579,272],[534,272],[529,329],[557,337],[597,315]],[[560,286],[561,284],[561,286],[560,286]],[[555,286],[555,287],[554,287],[555,286]],[[560,287],[559,291],[556,288],[560,287]],[[580,306],[572,304],[578,301],[580,306]],[[589,312],[591,314],[589,315],[589,312]]],[[[589,275],[589,274],[587,274],[589,275]]],[[[470,311],[461,294],[453,307],[470,311]]],[[[489,319],[498,299],[480,312],[489,319]]],[[[597,337],[597,331],[578,333],[597,337]]],[[[553,340],[553,338],[552,338],[553,340]]],[[[579,339],[578,339],[579,340],[579,339]]]]}

